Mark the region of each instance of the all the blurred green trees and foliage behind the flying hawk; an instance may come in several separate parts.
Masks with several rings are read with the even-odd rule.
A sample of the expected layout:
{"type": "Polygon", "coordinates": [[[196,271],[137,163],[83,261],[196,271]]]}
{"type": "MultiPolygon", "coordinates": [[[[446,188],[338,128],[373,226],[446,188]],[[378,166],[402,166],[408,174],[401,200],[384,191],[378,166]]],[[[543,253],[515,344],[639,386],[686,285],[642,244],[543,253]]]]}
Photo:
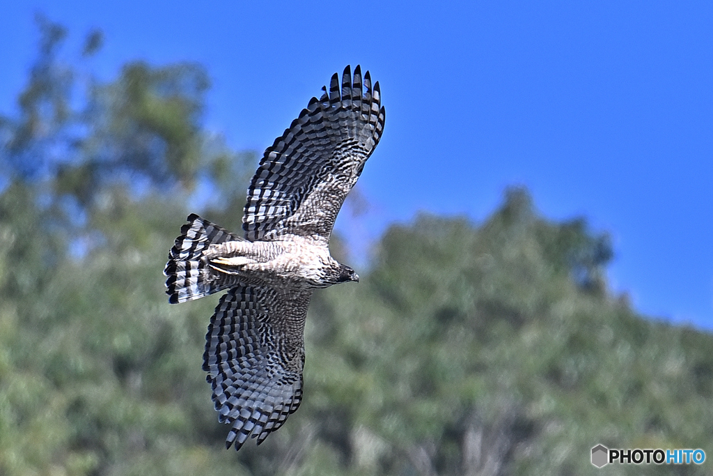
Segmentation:
{"type": "Polygon", "coordinates": [[[712,337],[612,295],[607,236],[518,188],[484,223],[391,226],[359,285],[318,290],[302,407],[225,451],[200,370],[217,297],[168,305],[161,270],[189,208],[240,229],[255,154],[202,129],[200,66],[103,83],[101,32],[66,61],[61,26],[39,28],[0,118],[0,474],[594,475],[597,443],[713,455],[712,337]]]}

